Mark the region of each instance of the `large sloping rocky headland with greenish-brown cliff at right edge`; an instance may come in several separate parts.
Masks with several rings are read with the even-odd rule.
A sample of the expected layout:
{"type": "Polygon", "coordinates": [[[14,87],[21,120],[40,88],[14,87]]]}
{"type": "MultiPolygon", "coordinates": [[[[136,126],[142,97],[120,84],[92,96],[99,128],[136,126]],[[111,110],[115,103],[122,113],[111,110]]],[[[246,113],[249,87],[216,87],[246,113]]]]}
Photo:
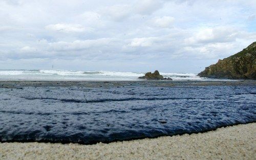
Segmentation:
{"type": "Polygon", "coordinates": [[[256,42],[243,51],[234,54],[216,64],[212,64],[198,74],[200,77],[254,79],[256,80],[256,42]]]}

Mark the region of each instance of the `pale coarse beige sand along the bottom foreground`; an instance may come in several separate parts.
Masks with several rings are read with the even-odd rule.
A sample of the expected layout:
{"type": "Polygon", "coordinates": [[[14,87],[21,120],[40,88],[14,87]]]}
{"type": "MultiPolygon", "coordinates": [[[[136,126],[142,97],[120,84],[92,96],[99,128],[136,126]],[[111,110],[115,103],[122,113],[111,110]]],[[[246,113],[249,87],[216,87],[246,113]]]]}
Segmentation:
{"type": "Polygon", "coordinates": [[[254,159],[256,123],[95,145],[0,143],[0,159],[254,159]]]}

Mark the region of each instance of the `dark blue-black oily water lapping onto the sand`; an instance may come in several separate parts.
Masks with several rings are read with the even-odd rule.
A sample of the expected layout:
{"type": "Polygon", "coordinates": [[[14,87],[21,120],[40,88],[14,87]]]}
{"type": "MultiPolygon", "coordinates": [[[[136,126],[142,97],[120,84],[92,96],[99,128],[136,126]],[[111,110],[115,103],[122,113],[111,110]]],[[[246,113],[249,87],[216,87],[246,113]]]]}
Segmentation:
{"type": "Polygon", "coordinates": [[[0,82],[0,142],[95,144],[256,122],[255,81],[0,82]]]}

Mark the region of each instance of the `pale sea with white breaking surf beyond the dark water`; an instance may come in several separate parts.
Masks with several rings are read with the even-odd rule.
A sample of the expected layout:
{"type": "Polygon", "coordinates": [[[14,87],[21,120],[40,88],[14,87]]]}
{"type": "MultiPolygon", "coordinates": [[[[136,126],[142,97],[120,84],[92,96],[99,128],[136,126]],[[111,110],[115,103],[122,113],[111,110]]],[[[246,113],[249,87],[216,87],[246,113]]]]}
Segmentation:
{"type": "MultiPolygon", "coordinates": [[[[142,72],[65,71],[65,70],[0,70],[0,80],[59,80],[59,81],[143,81],[142,72]]],[[[192,73],[160,73],[174,81],[230,81],[202,78],[192,73]]]]}

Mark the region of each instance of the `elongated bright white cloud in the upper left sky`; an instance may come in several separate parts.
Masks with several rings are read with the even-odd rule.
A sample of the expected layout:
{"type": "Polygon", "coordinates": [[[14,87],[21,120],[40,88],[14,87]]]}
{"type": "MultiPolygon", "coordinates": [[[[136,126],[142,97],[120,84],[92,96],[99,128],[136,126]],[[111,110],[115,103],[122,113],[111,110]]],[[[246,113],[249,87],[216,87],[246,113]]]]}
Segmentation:
{"type": "Polygon", "coordinates": [[[57,31],[57,32],[84,32],[86,28],[79,24],[55,24],[48,25],[45,27],[47,30],[57,31]]]}

